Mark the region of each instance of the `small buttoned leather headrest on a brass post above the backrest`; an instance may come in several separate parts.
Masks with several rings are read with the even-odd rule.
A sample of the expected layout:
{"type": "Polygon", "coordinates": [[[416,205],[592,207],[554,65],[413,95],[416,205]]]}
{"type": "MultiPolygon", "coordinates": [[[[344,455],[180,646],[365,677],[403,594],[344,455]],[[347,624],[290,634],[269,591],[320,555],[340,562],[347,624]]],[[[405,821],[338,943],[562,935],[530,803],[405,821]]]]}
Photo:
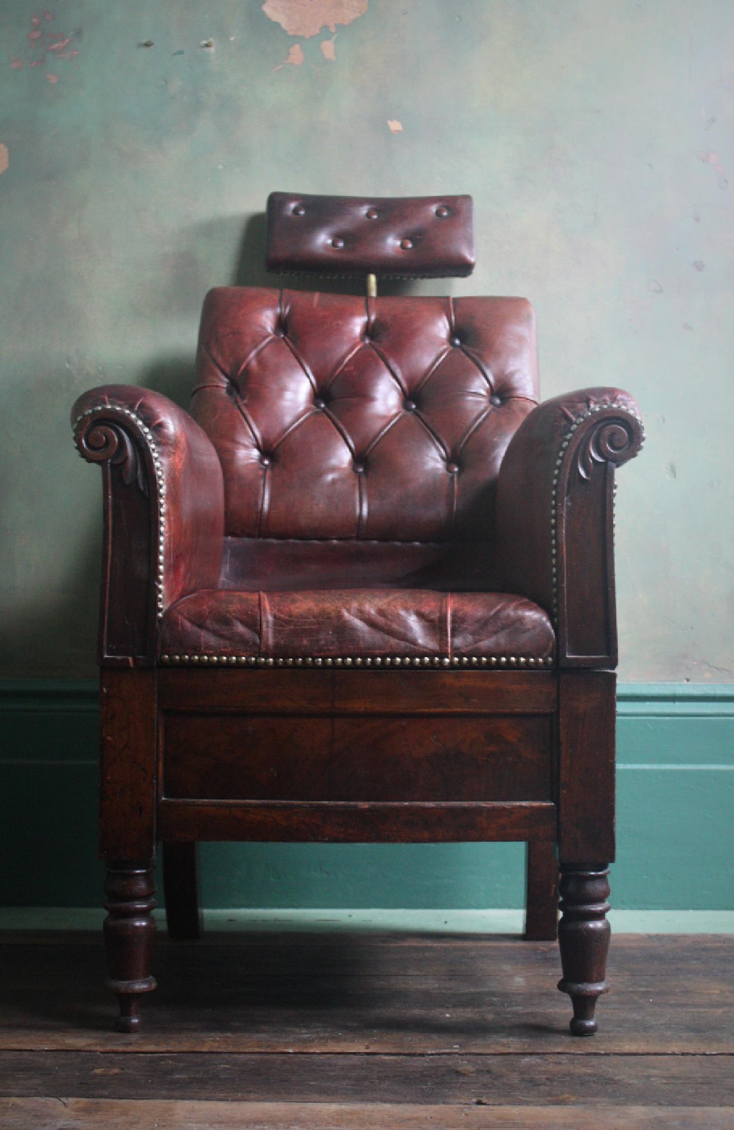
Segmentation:
{"type": "Polygon", "coordinates": [[[471,275],[472,198],[271,192],[265,262],[271,271],[313,275],[471,275]]]}

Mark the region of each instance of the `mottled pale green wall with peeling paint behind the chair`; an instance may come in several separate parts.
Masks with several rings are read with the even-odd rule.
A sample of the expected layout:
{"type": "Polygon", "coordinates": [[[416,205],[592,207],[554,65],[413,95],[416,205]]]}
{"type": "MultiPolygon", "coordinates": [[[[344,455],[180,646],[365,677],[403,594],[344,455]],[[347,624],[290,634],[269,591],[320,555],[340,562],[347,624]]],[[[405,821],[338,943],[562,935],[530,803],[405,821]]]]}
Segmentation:
{"type": "Polygon", "coordinates": [[[99,475],[69,406],[106,380],[186,401],[202,296],[263,280],[279,188],[473,193],[477,273],[417,292],[528,295],[544,393],[620,383],[647,421],[622,677],[734,678],[731,0],[49,3],[0,6],[0,673],[93,673],[99,475]],[[346,7],[335,37],[271,18],[346,7]]]}

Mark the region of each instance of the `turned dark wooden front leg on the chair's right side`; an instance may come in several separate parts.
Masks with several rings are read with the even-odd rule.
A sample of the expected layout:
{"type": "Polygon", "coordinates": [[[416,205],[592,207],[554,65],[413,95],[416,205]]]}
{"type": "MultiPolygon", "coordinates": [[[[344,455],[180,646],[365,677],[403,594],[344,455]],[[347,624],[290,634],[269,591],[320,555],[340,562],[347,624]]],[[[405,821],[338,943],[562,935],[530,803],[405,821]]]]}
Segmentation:
{"type": "Polygon", "coordinates": [[[609,867],[603,863],[561,863],[558,941],[563,976],[558,988],[569,994],[574,1005],[574,1036],[594,1035],[596,999],[609,991],[608,876],[609,867]]]}

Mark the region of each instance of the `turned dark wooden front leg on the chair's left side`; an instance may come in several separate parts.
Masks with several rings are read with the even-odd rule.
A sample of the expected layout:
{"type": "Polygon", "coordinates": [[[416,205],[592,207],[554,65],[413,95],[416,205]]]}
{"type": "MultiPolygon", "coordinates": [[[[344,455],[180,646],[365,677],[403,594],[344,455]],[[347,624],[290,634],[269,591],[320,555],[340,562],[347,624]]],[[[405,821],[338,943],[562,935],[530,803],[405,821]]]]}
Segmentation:
{"type": "Polygon", "coordinates": [[[140,998],[156,988],[150,976],[150,955],[156,935],[152,911],[156,885],[151,863],[107,864],[104,923],[107,968],[105,981],[120,1001],[117,1029],[134,1032],[140,1026],[140,998]]]}

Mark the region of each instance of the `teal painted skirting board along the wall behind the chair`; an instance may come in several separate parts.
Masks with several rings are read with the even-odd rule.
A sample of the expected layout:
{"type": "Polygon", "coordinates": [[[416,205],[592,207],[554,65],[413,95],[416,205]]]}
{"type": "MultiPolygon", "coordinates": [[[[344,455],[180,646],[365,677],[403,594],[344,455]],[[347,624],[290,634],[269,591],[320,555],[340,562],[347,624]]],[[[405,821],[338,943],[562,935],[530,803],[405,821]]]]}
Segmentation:
{"type": "MultiPolygon", "coordinates": [[[[0,903],[98,906],[96,685],[0,683],[0,903]]],[[[734,910],[734,686],[620,685],[618,765],[614,907],[734,910]]],[[[202,858],[213,907],[523,901],[522,844],[207,844],[202,858]]]]}

